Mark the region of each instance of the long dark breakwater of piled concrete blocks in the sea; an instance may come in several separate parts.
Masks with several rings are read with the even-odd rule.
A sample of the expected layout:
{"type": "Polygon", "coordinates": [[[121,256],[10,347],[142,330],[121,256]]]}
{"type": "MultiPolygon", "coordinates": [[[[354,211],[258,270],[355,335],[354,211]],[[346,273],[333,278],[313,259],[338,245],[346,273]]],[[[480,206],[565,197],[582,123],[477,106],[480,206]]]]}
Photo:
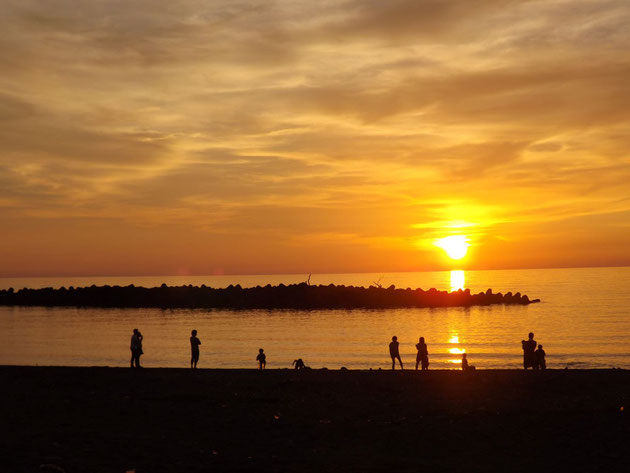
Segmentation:
{"type": "Polygon", "coordinates": [[[242,288],[230,285],[216,289],[202,286],[145,288],[90,286],[69,288],[13,289],[0,291],[0,305],[76,307],[157,307],[217,309],[383,309],[394,307],[468,307],[474,305],[526,305],[540,302],[517,292],[471,294],[437,289],[396,289],[370,286],[311,286],[307,283],[242,288]]]}

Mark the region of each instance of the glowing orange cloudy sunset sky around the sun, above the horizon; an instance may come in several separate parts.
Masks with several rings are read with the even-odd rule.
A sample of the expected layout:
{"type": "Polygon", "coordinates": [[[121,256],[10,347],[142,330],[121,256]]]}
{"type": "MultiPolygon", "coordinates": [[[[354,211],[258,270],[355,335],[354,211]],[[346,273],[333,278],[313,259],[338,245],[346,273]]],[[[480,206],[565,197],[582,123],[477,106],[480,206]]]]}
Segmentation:
{"type": "Polygon", "coordinates": [[[0,276],[630,265],[628,25],[627,0],[0,0],[0,276]]]}

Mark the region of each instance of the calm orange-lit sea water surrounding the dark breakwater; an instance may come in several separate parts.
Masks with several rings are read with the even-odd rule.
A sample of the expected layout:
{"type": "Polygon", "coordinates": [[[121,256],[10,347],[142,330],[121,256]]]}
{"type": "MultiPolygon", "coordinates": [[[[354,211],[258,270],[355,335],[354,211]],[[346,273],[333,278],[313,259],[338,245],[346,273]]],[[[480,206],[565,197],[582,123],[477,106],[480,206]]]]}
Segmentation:
{"type": "MultiPolygon", "coordinates": [[[[0,279],[0,288],[135,284],[225,287],[296,283],[306,275],[0,279]]],[[[431,368],[459,368],[461,353],[479,369],[519,368],[520,341],[533,331],[550,368],[630,368],[630,268],[320,274],[311,284],[428,289],[491,287],[520,291],[542,303],[392,310],[160,310],[0,307],[0,364],[128,366],[134,327],[144,334],[147,367],[186,367],[196,329],[200,368],[254,368],[258,348],[267,368],[303,358],[313,368],[389,368],[388,343],[400,341],[406,367],[424,336],[431,368]]]]}

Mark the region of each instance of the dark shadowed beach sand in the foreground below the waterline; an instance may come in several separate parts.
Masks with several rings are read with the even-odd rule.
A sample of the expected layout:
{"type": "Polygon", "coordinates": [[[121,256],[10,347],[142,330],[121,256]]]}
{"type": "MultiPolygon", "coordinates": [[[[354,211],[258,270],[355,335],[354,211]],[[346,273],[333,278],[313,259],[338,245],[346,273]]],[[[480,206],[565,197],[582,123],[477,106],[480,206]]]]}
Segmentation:
{"type": "Polygon", "coordinates": [[[630,461],[625,370],[0,367],[0,385],[2,472],[612,472],[630,461]]]}

